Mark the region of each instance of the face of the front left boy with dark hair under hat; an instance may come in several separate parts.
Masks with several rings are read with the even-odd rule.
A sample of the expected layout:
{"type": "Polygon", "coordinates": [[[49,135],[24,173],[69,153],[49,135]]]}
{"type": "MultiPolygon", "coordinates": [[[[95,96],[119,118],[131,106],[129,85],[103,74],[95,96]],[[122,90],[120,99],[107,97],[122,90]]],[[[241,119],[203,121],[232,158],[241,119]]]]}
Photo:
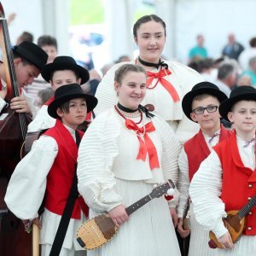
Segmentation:
{"type": "Polygon", "coordinates": [[[61,117],[62,124],[76,130],[82,124],[87,114],[87,105],[84,98],[72,99],[69,102],[69,113],[57,109],[57,114],[61,117]]]}

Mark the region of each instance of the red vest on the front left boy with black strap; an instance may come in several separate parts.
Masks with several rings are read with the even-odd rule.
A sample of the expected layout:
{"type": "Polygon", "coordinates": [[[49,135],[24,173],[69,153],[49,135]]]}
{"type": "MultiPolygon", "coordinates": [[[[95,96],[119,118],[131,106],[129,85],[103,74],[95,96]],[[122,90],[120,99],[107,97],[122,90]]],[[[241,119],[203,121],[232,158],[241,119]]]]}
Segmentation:
{"type": "MultiPolygon", "coordinates": [[[[79,131],[80,137],[83,134],[83,132],[79,131]]],[[[55,126],[46,131],[44,135],[53,137],[58,143],[58,154],[47,176],[44,204],[50,212],[62,215],[73,183],[78,159],[78,147],[70,132],[58,119],[56,119],[55,126]]],[[[83,211],[87,209],[84,214],[88,215],[88,207],[82,201],[81,196],[75,202],[71,218],[81,218],[80,209],[83,211]]]]}

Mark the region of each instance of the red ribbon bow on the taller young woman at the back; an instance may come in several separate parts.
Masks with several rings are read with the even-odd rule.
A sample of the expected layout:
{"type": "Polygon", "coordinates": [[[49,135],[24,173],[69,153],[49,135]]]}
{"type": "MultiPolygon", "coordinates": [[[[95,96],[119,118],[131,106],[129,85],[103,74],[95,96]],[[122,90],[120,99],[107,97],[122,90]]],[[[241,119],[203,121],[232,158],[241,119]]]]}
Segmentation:
{"type": "Polygon", "coordinates": [[[159,73],[152,73],[152,72],[147,71],[148,79],[147,79],[146,85],[147,85],[147,88],[149,88],[149,85],[152,84],[152,81],[154,79],[158,79],[156,84],[158,84],[158,82],[160,82],[160,84],[162,84],[165,87],[165,89],[172,96],[173,102],[178,102],[180,99],[177,94],[177,90],[174,88],[174,86],[169,81],[164,79],[164,77],[166,77],[166,75],[170,75],[171,73],[172,72],[169,69],[161,69],[159,73]]]}

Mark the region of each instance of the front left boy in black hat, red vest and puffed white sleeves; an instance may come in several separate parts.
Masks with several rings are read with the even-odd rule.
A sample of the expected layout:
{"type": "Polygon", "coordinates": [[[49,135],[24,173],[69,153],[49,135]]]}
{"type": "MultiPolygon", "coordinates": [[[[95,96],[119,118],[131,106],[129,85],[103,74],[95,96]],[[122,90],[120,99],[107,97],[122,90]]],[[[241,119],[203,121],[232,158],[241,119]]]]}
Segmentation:
{"type": "MultiPolygon", "coordinates": [[[[38,208],[44,199],[40,230],[42,256],[49,256],[67,197],[73,183],[77,186],[73,177],[83,133],[76,129],[96,104],[96,97],[84,94],[79,84],[58,88],[48,108],[49,115],[56,119],[55,126],[33,144],[10,179],[5,201],[18,218],[31,221],[38,218],[38,208]]],[[[75,201],[60,255],[77,255],[75,251],[82,250],[74,237],[85,220],[81,209],[86,210],[86,205],[81,200],[82,197],[77,197],[75,201]]]]}

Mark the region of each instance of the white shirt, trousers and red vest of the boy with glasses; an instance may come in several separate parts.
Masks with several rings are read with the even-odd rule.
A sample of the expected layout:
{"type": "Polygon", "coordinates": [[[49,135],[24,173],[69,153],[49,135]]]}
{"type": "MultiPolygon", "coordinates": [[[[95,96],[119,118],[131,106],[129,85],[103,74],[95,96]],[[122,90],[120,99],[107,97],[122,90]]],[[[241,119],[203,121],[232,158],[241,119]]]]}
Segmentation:
{"type": "MultiPolygon", "coordinates": [[[[189,197],[189,183],[198,170],[201,162],[211,153],[212,147],[230,136],[232,131],[225,130],[221,126],[219,131],[216,131],[214,136],[209,137],[199,131],[195,137],[184,143],[184,147],[178,158],[179,177],[177,189],[180,192],[179,204],[177,207],[178,218],[183,218],[183,210],[186,207],[186,201],[189,197]]],[[[205,230],[201,224],[195,220],[193,211],[193,203],[190,203],[189,222],[190,222],[190,241],[189,241],[189,256],[198,255],[218,255],[216,251],[208,246],[209,231],[205,230]]]]}

